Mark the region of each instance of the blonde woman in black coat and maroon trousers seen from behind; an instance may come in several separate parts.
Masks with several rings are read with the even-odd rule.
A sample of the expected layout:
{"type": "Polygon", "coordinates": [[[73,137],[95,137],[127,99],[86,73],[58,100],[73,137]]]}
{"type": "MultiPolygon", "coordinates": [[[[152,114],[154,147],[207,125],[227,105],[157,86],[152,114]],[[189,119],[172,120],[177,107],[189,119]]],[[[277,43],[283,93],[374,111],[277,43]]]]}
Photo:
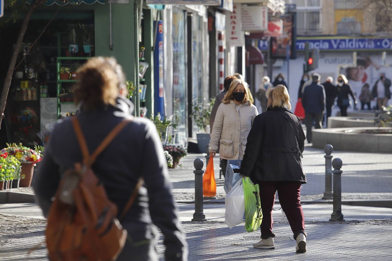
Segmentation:
{"type": "Polygon", "coordinates": [[[278,191],[280,205],[297,241],[296,252],[306,252],[306,232],[300,203],[301,184],[307,183],[301,157],[305,133],[293,113],[287,88],[278,85],[267,93],[267,112],[254,119],[240,173],[260,186],[261,240],[256,248],[273,249],[272,208],[278,191]]]}

